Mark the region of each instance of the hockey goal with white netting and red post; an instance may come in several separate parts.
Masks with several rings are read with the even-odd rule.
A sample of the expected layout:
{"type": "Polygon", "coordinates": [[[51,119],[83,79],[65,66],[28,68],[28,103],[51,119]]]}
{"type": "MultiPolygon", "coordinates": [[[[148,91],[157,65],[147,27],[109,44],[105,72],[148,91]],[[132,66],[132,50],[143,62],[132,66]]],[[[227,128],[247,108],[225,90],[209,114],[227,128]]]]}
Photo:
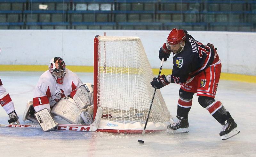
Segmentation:
{"type": "MultiPolygon", "coordinates": [[[[94,115],[103,108],[98,131],[141,133],[146,122],[154,78],[139,37],[94,38],[94,115]]],[[[156,90],[146,132],[165,130],[172,119],[156,90]]]]}

